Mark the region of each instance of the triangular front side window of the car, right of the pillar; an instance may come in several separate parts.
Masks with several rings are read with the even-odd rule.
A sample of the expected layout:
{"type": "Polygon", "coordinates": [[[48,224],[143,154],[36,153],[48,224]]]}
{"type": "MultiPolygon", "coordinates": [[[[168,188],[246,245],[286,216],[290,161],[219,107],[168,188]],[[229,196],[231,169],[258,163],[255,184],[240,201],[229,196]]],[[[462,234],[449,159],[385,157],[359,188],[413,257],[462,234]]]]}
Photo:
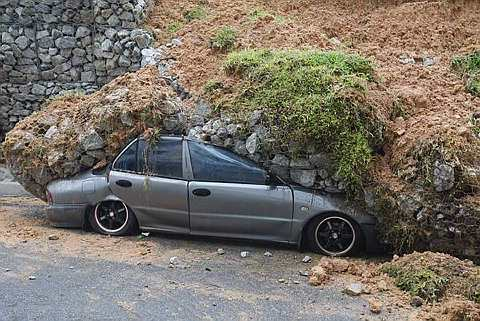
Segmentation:
{"type": "Polygon", "coordinates": [[[227,149],[188,142],[193,177],[200,181],[264,185],[267,173],[253,161],[227,149]]]}

